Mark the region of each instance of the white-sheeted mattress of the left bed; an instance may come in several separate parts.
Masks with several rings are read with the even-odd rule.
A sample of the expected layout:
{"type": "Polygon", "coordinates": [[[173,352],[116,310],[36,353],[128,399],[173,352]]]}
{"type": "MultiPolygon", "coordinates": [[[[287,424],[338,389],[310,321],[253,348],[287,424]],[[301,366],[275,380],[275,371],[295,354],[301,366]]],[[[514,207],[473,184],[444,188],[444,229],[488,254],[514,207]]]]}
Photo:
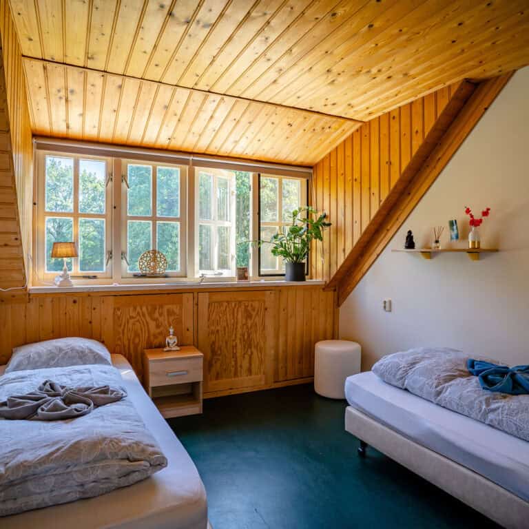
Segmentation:
{"type": "MultiPolygon", "coordinates": [[[[152,477],[108,494],[81,499],[0,520],[2,529],[206,529],[206,493],[198,470],[130,364],[121,355],[112,362],[123,377],[128,397],[167,457],[167,467],[152,477]]],[[[0,367],[0,375],[5,366],[0,367]]]]}

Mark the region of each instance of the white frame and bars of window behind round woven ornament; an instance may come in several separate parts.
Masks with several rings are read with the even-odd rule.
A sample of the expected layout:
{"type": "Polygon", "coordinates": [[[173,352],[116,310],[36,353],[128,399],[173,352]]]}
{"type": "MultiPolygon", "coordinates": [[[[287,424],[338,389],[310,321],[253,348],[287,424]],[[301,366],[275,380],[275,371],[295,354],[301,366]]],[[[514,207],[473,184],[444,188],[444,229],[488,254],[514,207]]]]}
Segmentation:
{"type": "MultiPolygon", "coordinates": [[[[128,270],[128,247],[127,247],[127,229],[129,220],[141,221],[145,220],[151,222],[151,249],[157,249],[157,230],[158,222],[178,222],[180,227],[180,270],[167,271],[169,278],[185,278],[187,276],[187,167],[183,165],[153,162],[146,160],[121,160],[121,278],[134,278],[134,271],[128,270]],[[143,165],[152,168],[151,172],[151,215],[132,216],[128,214],[128,167],[129,165],[143,165]],[[169,167],[171,169],[178,169],[180,173],[180,203],[178,205],[178,217],[158,216],[157,210],[157,175],[159,167],[169,167]]],[[[149,279],[149,278],[145,278],[149,279]]],[[[150,278],[152,281],[152,278],[150,278]]]]}

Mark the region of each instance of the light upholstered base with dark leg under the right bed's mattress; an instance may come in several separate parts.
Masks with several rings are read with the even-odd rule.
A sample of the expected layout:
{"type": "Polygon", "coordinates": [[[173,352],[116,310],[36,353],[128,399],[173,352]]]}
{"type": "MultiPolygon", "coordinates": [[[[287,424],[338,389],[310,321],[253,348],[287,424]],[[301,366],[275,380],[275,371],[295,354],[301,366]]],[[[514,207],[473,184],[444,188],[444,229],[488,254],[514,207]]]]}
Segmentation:
{"type": "Polygon", "coordinates": [[[529,503],[485,477],[439,455],[348,406],[345,429],[360,439],[360,456],[373,446],[448,494],[508,529],[529,528],[529,503]]]}

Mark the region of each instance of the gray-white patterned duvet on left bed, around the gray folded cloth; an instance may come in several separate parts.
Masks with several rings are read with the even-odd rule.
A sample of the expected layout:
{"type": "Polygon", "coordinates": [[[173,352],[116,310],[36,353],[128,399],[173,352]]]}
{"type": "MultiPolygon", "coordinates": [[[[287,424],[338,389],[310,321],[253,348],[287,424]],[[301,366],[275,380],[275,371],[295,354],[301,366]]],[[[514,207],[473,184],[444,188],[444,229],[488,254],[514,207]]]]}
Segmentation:
{"type": "MultiPolygon", "coordinates": [[[[0,401],[45,380],[66,386],[122,383],[119,371],[106,365],[14,371],[0,377],[0,401]]],[[[165,466],[128,398],[64,421],[0,419],[0,516],[105,494],[165,466]]]]}

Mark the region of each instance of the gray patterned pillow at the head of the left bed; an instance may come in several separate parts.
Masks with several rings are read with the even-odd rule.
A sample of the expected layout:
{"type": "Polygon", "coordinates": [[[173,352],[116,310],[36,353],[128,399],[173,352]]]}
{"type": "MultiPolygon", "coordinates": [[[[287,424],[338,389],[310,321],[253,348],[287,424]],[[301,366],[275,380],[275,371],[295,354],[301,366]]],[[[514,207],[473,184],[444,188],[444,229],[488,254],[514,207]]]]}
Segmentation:
{"type": "Polygon", "coordinates": [[[45,367],[82,366],[85,364],[112,365],[108,349],[96,340],[87,338],[58,338],[13,349],[6,373],[45,367]]]}

